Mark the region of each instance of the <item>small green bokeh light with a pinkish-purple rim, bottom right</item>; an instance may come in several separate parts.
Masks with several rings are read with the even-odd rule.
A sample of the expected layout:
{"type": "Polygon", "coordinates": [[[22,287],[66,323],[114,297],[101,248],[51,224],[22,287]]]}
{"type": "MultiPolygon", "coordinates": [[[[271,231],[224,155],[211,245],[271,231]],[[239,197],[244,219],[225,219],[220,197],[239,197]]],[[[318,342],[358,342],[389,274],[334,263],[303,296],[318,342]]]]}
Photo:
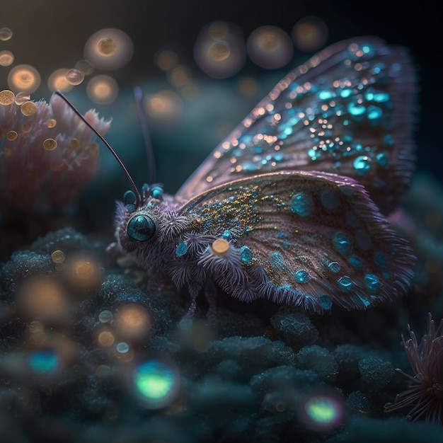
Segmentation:
{"type": "Polygon", "coordinates": [[[317,432],[335,430],[343,424],[345,405],[335,393],[317,393],[299,403],[298,418],[304,426],[317,432]]]}

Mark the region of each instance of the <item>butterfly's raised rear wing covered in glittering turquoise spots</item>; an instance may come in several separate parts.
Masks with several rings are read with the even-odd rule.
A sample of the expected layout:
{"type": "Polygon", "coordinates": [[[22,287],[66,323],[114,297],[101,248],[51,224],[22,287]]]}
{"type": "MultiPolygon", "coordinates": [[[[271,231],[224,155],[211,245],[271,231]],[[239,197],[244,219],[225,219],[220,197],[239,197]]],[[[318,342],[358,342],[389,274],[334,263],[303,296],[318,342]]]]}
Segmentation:
{"type": "Polygon", "coordinates": [[[389,212],[413,171],[414,85],[404,48],[338,42],[280,81],[176,196],[261,173],[328,171],[355,178],[389,212]]]}

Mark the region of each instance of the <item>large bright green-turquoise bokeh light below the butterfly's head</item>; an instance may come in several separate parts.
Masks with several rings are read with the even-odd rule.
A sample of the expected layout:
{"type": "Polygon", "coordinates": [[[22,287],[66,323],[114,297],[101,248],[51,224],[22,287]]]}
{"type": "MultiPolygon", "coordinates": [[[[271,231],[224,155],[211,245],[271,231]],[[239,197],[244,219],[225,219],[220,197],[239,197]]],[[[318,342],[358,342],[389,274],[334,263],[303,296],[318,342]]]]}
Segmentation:
{"type": "Polygon", "coordinates": [[[140,362],[132,372],[135,393],[142,406],[159,409],[178,395],[180,380],[176,369],[157,359],[140,362]]]}

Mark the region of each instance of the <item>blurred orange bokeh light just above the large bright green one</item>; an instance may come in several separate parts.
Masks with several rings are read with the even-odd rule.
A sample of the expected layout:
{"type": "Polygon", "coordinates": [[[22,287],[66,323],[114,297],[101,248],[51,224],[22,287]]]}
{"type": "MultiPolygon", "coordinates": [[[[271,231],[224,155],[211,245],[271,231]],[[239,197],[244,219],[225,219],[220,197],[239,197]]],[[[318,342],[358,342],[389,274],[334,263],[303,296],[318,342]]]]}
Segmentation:
{"type": "Polygon", "coordinates": [[[115,313],[115,328],[125,340],[145,340],[152,330],[151,313],[136,303],[120,306],[115,313]]]}

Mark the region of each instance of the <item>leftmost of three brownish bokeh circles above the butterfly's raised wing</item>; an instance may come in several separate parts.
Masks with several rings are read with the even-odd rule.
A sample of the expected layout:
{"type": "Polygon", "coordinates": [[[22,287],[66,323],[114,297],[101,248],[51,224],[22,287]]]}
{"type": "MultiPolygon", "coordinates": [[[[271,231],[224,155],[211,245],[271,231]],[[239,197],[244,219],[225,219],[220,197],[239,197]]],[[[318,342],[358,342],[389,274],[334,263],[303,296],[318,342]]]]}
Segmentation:
{"type": "Polygon", "coordinates": [[[195,41],[194,58],[198,67],[214,79],[233,76],[246,60],[241,30],[223,21],[210,23],[200,31],[195,41]]]}

